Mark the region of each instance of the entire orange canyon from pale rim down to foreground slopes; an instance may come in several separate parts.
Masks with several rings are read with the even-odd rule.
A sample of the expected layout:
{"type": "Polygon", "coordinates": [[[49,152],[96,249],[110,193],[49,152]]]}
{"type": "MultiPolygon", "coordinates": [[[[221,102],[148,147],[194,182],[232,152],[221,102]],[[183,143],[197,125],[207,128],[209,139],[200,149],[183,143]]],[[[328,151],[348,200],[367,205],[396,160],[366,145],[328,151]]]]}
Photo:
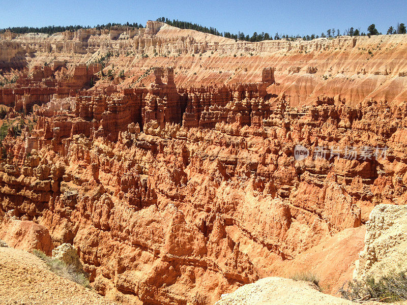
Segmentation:
{"type": "Polygon", "coordinates": [[[336,294],[372,209],[407,198],[406,51],[157,21],[2,33],[0,238],[70,243],[124,303],[214,304],[308,270],[336,294]]]}

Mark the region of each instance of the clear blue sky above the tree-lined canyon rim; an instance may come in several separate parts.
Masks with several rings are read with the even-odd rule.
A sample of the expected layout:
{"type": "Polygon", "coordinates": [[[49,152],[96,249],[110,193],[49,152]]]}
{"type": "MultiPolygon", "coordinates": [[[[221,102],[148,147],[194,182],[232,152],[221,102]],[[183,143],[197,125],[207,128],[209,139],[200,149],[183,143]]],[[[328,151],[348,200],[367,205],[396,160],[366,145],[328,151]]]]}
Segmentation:
{"type": "Polygon", "coordinates": [[[9,26],[96,25],[138,22],[158,17],[213,26],[219,32],[274,35],[321,35],[328,28],[353,26],[367,32],[374,23],[386,34],[390,25],[407,24],[407,1],[4,1],[0,0],[0,28],[9,26]]]}

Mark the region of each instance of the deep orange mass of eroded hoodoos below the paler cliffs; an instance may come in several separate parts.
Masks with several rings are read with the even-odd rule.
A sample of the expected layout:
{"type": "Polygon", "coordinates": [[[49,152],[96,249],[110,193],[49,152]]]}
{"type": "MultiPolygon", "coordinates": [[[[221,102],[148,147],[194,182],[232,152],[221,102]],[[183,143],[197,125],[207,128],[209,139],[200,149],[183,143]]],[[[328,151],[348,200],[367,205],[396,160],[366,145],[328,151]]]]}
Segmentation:
{"type": "Polygon", "coordinates": [[[273,106],[263,82],[202,87],[191,96],[208,97],[195,107],[208,107],[196,121],[206,123],[186,127],[171,109],[194,99],[170,75],[158,70],[148,88],[82,91],[59,108],[55,98],[37,110],[35,130],[3,142],[2,218],[74,245],[100,293],[213,303],[360,226],[375,204],[405,200],[405,105],[324,98],[298,109],[283,97],[273,106]],[[167,98],[164,112],[150,107],[152,93],[167,98]],[[386,159],[326,148],[296,161],[298,143],[311,156],[317,146],[389,149],[386,159]]]}

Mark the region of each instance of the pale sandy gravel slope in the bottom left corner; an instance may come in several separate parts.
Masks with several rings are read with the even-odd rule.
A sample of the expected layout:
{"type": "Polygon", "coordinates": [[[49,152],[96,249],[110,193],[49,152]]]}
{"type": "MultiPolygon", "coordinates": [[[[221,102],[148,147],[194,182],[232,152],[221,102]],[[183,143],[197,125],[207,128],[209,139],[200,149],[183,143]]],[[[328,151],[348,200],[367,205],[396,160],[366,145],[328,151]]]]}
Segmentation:
{"type": "Polygon", "coordinates": [[[13,248],[0,248],[0,304],[117,303],[55,275],[33,254],[13,248]]]}

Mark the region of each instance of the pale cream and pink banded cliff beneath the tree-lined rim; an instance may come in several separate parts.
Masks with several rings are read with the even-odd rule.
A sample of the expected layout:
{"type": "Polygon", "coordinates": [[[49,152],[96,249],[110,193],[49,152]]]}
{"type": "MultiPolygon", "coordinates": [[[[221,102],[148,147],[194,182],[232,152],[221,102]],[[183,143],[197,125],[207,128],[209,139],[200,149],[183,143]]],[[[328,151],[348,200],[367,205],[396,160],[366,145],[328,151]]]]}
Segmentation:
{"type": "Polygon", "coordinates": [[[250,43],[149,21],[142,29],[2,34],[0,74],[54,60],[90,64],[112,54],[105,72],[124,70],[130,76],[125,85],[141,83],[150,67],[172,66],[177,85],[199,86],[260,81],[261,69],[273,63],[279,79],[273,93],[291,96],[294,106],[322,94],[341,95],[352,105],[370,98],[400,103],[406,100],[406,48],[405,35],[250,43]]]}

